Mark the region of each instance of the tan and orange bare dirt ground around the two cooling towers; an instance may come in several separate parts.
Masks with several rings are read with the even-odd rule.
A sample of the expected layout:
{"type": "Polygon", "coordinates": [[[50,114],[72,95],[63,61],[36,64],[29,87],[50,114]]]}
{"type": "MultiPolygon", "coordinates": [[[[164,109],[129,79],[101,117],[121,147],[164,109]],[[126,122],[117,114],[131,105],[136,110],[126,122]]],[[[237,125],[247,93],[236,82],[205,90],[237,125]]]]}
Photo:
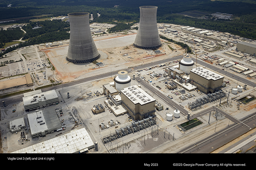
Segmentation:
{"type": "MultiPolygon", "coordinates": [[[[95,37],[96,43],[106,44],[106,48],[98,49],[101,57],[97,62],[104,63],[104,66],[99,67],[93,63],[75,64],[66,60],[68,51],[68,42],[63,42],[55,48],[46,48],[45,45],[40,46],[39,50],[44,51],[47,58],[54,66],[54,75],[57,80],[63,82],[70,82],[79,78],[91,77],[95,74],[102,74],[110,71],[117,71],[141,65],[142,63],[151,63],[154,61],[175,57],[184,54],[184,50],[180,49],[178,45],[167,44],[162,41],[163,45],[158,50],[161,54],[155,53],[153,50],[143,50],[135,48],[132,45],[134,34],[113,34],[110,36],[95,37]],[[102,41],[103,40],[103,41],[102,41]],[[118,42],[117,42],[118,41],[118,42]],[[109,44],[122,43],[121,47],[111,47],[109,44]],[[168,45],[177,49],[177,52],[172,51],[168,45]]],[[[101,44],[101,46],[102,46],[101,44]]]]}

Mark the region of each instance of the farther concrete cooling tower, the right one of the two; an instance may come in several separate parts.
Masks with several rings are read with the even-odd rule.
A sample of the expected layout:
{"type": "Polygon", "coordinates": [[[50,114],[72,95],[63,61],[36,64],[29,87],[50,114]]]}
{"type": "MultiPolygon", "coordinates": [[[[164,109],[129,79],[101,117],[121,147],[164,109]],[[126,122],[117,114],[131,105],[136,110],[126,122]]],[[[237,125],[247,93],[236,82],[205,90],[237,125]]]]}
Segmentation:
{"type": "Polygon", "coordinates": [[[157,30],[157,6],[140,6],[140,25],[134,47],[156,49],[161,45],[157,30]]]}

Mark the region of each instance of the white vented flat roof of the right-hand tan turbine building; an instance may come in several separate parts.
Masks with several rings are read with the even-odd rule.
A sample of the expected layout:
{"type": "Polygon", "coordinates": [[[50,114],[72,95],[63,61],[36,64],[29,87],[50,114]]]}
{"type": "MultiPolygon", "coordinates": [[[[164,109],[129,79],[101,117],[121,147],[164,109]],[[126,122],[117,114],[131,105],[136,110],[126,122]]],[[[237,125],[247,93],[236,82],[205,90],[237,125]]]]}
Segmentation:
{"type": "Polygon", "coordinates": [[[192,68],[190,72],[193,72],[201,77],[204,77],[205,79],[212,79],[212,80],[218,80],[218,79],[222,79],[224,78],[223,76],[221,76],[220,74],[216,74],[213,71],[209,71],[206,68],[202,68],[202,67],[197,67],[197,68],[192,68]]]}

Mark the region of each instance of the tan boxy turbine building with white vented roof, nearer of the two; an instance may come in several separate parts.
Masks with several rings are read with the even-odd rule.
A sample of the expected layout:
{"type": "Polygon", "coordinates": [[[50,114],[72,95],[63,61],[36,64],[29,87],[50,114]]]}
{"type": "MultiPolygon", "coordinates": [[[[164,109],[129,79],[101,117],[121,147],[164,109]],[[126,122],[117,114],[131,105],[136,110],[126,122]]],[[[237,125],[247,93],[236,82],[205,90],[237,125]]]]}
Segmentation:
{"type": "Polygon", "coordinates": [[[121,91],[122,104],[134,120],[142,120],[155,113],[155,99],[134,85],[121,91]]]}

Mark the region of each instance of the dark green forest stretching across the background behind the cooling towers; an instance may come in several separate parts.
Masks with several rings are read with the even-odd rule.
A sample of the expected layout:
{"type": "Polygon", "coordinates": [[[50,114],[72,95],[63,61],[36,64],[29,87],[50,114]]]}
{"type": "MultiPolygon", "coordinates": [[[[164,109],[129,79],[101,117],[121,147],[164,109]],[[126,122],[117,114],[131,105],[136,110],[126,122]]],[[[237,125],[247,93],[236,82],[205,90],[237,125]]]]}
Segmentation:
{"type": "MultiPolygon", "coordinates": [[[[0,48],[3,48],[5,42],[18,40],[20,37],[23,37],[23,40],[28,40],[20,43],[20,47],[69,39],[67,33],[70,30],[68,22],[61,22],[60,20],[29,21],[29,19],[38,15],[55,17],[67,16],[71,12],[89,12],[93,14],[93,21],[90,21],[90,23],[117,24],[109,30],[114,32],[129,29],[131,25],[126,23],[138,23],[140,21],[140,6],[157,6],[157,23],[171,23],[229,32],[230,34],[256,40],[255,0],[0,0],[1,20],[15,18],[15,21],[9,23],[29,23],[23,26],[23,29],[27,32],[26,34],[23,34],[20,30],[1,30],[0,48]],[[233,14],[234,17],[232,20],[215,20],[214,17],[199,19],[179,14],[192,10],[204,12],[206,16],[221,12],[233,14]],[[97,17],[97,13],[100,14],[99,17],[97,17]]],[[[3,23],[0,25],[3,25],[3,23]]]]}

